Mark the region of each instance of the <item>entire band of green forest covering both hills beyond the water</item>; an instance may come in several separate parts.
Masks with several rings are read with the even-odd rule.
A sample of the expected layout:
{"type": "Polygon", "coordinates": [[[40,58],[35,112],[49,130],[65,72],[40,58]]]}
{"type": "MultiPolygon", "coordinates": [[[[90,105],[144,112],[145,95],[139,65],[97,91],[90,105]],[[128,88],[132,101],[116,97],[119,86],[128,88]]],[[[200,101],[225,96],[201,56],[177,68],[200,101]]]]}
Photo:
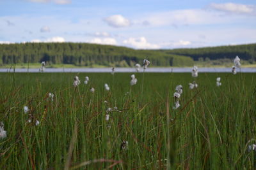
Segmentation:
{"type": "Polygon", "coordinates": [[[180,48],[175,50],[134,50],[123,46],[89,43],[16,43],[0,45],[0,65],[20,63],[74,64],[76,66],[129,67],[148,59],[154,66],[193,66],[199,59],[255,61],[256,44],[180,48]]]}

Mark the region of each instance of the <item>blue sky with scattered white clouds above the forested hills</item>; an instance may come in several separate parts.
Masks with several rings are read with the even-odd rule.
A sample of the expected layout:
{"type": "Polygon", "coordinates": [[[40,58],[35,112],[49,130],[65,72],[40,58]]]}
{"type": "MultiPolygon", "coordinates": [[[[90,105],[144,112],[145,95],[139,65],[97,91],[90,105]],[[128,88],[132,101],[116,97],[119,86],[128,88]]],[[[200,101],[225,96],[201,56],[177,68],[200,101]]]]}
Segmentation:
{"type": "Polygon", "coordinates": [[[256,1],[0,0],[0,43],[135,49],[256,43],[256,1]]]}

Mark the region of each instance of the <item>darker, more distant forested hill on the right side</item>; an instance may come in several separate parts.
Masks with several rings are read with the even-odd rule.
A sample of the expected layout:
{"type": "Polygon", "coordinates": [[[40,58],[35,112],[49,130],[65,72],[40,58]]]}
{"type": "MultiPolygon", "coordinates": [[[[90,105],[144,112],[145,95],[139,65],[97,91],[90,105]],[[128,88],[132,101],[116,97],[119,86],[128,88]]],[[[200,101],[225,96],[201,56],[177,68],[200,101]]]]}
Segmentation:
{"type": "Polygon", "coordinates": [[[180,48],[174,50],[157,50],[168,54],[186,55],[194,60],[206,59],[234,59],[238,55],[243,60],[254,62],[256,60],[256,44],[230,45],[204,48],[180,48]]]}

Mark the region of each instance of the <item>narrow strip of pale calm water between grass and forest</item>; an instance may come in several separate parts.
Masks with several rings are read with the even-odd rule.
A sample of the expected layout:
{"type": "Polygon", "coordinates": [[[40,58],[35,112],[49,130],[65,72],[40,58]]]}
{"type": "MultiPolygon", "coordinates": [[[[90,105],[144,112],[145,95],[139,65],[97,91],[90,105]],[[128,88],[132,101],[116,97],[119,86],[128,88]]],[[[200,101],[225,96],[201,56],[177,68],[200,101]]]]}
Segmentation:
{"type": "MultiPolygon", "coordinates": [[[[148,67],[146,69],[146,72],[150,73],[190,73],[192,70],[192,67],[148,67]]],[[[0,72],[13,72],[13,69],[0,69],[0,72]]],[[[38,73],[39,69],[15,69],[15,72],[19,73],[38,73]]],[[[207,68],[207,67],[199,67],[199,72],[208,72],[208,73],[225,73],[232,71],[232,68],[207,68]]],[[[237,69],[237,72],[243,72],[243,73],[256,73],[256,67],[250,67],[250,68],[241,68],[237,69]]],[[[111,68],[45,68],[45,73],[110,73],[111,68]]],[[[134,68],[127,68],[127,67],[118,67],[115,69],[115,72],[117,73],[133,73],[136,72],[136,69],[134,68]]],[[[143,68],[140,69],[140,72],[143,72],[143,68]]]]}

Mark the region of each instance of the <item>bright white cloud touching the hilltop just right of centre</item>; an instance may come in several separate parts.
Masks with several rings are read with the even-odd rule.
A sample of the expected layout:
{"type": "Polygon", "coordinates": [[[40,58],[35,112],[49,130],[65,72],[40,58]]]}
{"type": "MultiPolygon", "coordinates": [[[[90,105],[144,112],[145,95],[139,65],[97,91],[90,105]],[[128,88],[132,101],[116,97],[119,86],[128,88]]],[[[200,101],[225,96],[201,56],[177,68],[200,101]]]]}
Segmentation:
{"type": "Polygon", "coordinates": [[[148,43],[147,39],[145,37],[125,39],[123,41],[123,43],[126,44],[126,45],[131,45],[134,48],[140,48],[140,49],[160,48],[159,45],[148,43]]]}

